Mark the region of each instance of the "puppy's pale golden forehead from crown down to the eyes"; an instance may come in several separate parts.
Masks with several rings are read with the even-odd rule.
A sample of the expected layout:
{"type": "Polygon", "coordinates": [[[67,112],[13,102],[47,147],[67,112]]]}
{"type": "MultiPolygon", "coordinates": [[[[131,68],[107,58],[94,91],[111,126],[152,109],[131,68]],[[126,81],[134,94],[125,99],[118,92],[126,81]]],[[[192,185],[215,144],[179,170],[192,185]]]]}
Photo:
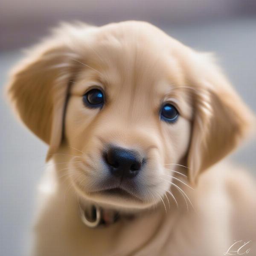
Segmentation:
{"type": "Polygon", "coordinates": [[[179,89],[186,85],[180,55],[187,49],[161,30],[144,24],[108,25],[88,38],[79,52],[81,69],[72,94],[82,95],[99,84],[120,104],[158,110],[161,102],[172,99],[189,105],[188,91],[179,89]]]}

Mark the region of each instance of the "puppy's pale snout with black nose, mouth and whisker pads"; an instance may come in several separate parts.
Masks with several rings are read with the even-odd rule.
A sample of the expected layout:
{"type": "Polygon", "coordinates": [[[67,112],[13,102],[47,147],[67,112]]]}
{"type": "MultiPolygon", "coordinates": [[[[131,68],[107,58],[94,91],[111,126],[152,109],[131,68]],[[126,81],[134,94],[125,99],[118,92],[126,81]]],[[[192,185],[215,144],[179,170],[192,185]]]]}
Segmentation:
{"type": "Polygon", "coordinates": [[[169,187],[159,178],[164,168],[158,144],[145,134],[130,140],[117,134],[102,137],[94,136],[90,146],[81,149],[83,163],[72,164],[73,169],[81,170],[72,176],[77,191],[111,207],[144,209],[155,204],[169,187]],[[86,177],[81,179],[80,174],[86,177]]]}

